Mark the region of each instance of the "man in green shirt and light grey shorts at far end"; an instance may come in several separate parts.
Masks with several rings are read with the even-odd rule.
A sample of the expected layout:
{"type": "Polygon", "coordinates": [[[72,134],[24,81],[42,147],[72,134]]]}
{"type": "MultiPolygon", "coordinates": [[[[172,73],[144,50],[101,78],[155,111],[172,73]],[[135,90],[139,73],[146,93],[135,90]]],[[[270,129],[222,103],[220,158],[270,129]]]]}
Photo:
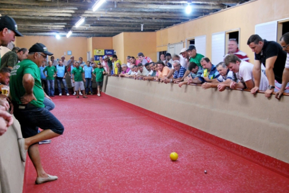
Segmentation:
{"type": "Polygon", "coordinates": [[[71,71],[71,74],[73,75],[73,83],[75,84],[75,91],[77,94],[76,98],[79,98],[79,88],[82,91],[83,98],[87,98],[84,93],[83,81],[86,82],[84,78],[84,70],[82,69],[82,67],[79,67],[79,62],[75,63],[75,68],[73,69],[73,71],[71,71]]]}

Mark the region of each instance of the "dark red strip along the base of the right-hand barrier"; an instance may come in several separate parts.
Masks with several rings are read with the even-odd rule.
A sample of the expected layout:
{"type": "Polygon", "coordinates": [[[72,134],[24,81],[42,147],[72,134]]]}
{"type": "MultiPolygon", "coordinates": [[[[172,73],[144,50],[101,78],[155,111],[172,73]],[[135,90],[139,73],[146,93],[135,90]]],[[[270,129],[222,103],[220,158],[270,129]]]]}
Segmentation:
{"type": "Polygon", "coordinates": [[[107,95],[102,92],[102,95],[106,95],[107,97],[112,98],[113,102],[116,102],[117,104],[121,104],[125,107],[128,107],[130,109],[136,110],[140,113],[143,113],[147,115],[150,118],[157,119],[158,121],[169,125],[171,127],[174,127],[180,131],[183,131],[185,133],[188,133],[198,139],[201,139],[203,141],[206,141],[216,147],[219,147],[221,149],[224,149],[226,151],[229,151],[233,153],[236,156],[239,156],[245,160],[248,160],[252,163],[255,163],[259,166],[262,166],[264,168],[267,168],[277,174],[280,174],[286,178],[289,178],[289,164],[277,160],[276,158],[272,158],[270,156],[267,156],[261,152],[255,151],[253,149],[249,149],[247,147],[244,147],[242,145],[233,143],[231,141],[228,141],[226,139],[222,139],[220,137],[214,136],[212,134],[206,133],[202,130],[196,129],[194,127],[191,127],[189,125],[177,122],[175,120],[172,120],[170,118],[164,117],[163,115],[157,114],[153,111],[144,109],[142,107],[136,106],[134,104],[131,104],[129,102],[123,101],[121,99],[115,98],[113,96],[107,95]],[[118,102],[119,100],[120,102],[118,102]]]}

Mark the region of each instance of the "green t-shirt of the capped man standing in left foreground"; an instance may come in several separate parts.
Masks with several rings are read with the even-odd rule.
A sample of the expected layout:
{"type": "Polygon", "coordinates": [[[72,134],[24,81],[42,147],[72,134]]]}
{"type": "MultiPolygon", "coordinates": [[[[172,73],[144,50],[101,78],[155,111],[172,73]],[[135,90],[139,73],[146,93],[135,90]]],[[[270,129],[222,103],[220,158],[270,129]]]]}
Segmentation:
{"type": "Polygon", "coordinates": [[[21,104],[20,98],[26,93],[22,83],[23,76],[26,73],[31,74],[34,78],[33,94],[37,99],[36,101],[32,100],[30,104],[37,107],[45,107],[39,68],[37,64],[28,59],[16,64],[11,71],[9,86],[12,100],[17,102],[17,104],[21,104]]]}

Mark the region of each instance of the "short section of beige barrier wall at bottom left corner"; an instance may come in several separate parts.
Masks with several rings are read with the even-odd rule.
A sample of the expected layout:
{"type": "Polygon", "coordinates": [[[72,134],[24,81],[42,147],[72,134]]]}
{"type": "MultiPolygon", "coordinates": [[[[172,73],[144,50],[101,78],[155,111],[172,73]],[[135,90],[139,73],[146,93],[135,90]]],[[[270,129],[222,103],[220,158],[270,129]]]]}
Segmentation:
{"type": "Polygon", "coordinates": [[[0,136],[0,183],[2,193],[21,193],[25,163],[21,161],[17,139],[22,137],[19,122],[14,123],[0,136]]]}

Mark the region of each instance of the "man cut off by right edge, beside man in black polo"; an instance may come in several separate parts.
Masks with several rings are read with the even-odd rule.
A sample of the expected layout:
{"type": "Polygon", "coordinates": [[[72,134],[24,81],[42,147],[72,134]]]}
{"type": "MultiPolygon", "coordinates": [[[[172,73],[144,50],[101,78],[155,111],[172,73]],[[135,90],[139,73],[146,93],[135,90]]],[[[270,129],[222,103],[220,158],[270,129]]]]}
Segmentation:
{"type": "Polygon", "coordinates": [[[285,52],[287,52],[287,59],[282,75],[282,84],[275,85],[279,90],[276,92],[275,98],[280,99],[283,93],[289,93],[289,32],[282,35],[280,38],[280,45],[285,52]]]}

